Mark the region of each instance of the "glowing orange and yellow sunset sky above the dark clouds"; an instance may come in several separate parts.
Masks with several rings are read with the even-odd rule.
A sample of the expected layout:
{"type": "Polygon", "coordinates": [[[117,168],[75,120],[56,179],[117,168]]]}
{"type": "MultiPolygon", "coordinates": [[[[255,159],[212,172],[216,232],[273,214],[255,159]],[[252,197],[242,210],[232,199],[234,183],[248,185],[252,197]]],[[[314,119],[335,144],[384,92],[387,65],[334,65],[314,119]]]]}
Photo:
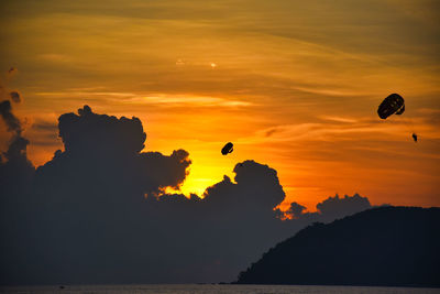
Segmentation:
{"type": "MultiPolygon", "coordinates": [[[[63,149],[57,118],[89,105],[140,118],[145,151],[186,150],[186,195],[254,160],[277,171],[284,208],[312,211],[336,193],[440,206],[437,1],[6,0],[0,10],[1,83],[22,97],[14,111],[35,165],[63,149]],[[381,120],[392,92],[406,111],[381,120]]],[[[1,124],[2,150],[9,138],[1,124]]]]}

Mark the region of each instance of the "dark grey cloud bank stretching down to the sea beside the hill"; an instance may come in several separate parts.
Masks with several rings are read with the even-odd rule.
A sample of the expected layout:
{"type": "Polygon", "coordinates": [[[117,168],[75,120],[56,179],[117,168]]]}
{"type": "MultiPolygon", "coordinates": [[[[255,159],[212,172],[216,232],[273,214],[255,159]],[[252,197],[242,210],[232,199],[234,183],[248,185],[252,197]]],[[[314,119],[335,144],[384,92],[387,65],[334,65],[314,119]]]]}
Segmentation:
{"type": "Polygon", "coordinates": [[[360,209],[360,196],[329,198],[314,214],[293,204],[295,219],[282,220],[277,172],[254,161],[204,198],[163,194],[185,181],[189,154],[142,152],[138,118],[85,106],[61,116],[58,128],[65,149],[36,172],[19,137],[0,163],[3,284],[232,281],[308,224],[360,209]]]}

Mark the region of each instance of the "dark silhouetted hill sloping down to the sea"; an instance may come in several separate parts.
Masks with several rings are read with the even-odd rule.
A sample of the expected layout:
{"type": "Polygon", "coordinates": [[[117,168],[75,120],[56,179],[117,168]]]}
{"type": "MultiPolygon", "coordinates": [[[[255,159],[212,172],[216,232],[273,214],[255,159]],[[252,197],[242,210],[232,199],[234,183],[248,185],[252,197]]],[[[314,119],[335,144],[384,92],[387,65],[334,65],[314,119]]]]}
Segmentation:
{"type": "Polygon", "coordinates": [[[278,243],[241,284],[440,286],[440,208],[381,207],[278,243]]]}

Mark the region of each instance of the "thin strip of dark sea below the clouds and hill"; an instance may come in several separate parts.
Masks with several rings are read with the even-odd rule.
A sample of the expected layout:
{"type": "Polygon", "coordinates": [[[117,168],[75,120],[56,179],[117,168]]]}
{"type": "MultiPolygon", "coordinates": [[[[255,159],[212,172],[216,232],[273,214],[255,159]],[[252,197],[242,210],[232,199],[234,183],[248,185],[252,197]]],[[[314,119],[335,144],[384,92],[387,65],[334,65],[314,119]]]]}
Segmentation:
{"type": "Polygon", "coordinates": [[[54,285],[10,286],[0,293],[146,293],[146,294],[422,294],[440,293],[440,288],[367,287],[367,286],[290,286],[290,285],[54,285]]]}

